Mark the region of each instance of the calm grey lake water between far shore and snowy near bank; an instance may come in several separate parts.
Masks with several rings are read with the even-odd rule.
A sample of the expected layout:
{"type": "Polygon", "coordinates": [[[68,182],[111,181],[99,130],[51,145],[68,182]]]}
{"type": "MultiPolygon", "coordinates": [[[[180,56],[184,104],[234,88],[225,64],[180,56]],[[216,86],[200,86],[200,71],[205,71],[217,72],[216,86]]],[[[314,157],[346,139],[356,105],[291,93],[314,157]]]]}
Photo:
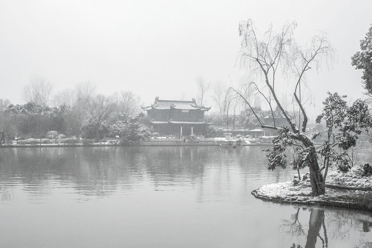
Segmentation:
{"type": "Polygon", "coordinates": [[[0,149],[0,247],[372,247],[372,213],[281,205],[265,147],[0,149]]]}

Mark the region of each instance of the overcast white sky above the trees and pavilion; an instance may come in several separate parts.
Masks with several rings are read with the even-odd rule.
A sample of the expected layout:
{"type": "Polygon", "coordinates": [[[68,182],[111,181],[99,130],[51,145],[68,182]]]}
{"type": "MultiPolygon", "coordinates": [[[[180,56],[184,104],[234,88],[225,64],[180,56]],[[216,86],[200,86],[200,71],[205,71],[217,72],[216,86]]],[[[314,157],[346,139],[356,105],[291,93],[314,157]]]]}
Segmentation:
{"type": "Polygon", "coordinates": [[[23,85],[37,75],[55,92],[89,80],[103,94],[131,90],[145,105],[191,99],[199,75],[239,80],[238,25],[248,18],[262,32],[296,21],[301,44],[327,32],[336,62],[309,77],[317,104],[327,90],[360,97],[362,72],[350,58],[372,23],[370,0],[0,0],[0,98],[23,103],[23,85]]]}

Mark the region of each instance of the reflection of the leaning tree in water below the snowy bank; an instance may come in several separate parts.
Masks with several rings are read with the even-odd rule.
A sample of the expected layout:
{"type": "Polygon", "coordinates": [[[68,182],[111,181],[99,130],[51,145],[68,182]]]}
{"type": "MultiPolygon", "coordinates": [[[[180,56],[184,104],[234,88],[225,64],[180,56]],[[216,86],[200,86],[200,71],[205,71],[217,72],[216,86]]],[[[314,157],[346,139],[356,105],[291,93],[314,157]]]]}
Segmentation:
{"type": "MultiPolygon", "coordinates": [[[[314,248],[317,247],[317,242],[319,243],[318,247],[333,247],[335,241],[338,243],[344,242],[344,244],[356,242],[358,245],[355,245],[355,247],[372,246],[371,241],[353,235],[358,234],[356,236],[364,237],[365,235],[361,232],[371,231],[371,213],[360,214],[358,211],[320,207],[296,207],[295,210],[291,218],[283,219],[281,221],[283,224],[279,226],[282,235],[291,236],[292,240],[294,237],[303,240],[300,243],[293,243],[290,248],[314,248]],[[301,214],[305,218],[300,218],[301,214]],[[305,223],[307,216],[309,216],[308,223],[305,223]],[[307,234],[305,234],[305,227],[307,228],[307,234]]],[[[338,245],[338,247],[342,246],[338,245]]],[[[354,246],[346,245],[345,247],[354,246]]]]}

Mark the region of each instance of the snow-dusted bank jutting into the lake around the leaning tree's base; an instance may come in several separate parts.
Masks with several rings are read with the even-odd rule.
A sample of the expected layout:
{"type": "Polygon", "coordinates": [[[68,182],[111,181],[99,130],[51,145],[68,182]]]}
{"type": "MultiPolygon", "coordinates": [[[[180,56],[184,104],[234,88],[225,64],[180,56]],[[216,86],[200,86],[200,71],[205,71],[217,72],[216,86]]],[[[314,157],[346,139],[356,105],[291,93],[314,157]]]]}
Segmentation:
{"type": "Polygon", "coordinates": [[[325,205],[372,211],[372,176],[365,173],[363,166],[355,166],[350,172],[329,172],[326,193],[311,195],[309,177],[285,183],[272,183],[252,191],[253,196],[277,203],[299,205],[325,205]]]}

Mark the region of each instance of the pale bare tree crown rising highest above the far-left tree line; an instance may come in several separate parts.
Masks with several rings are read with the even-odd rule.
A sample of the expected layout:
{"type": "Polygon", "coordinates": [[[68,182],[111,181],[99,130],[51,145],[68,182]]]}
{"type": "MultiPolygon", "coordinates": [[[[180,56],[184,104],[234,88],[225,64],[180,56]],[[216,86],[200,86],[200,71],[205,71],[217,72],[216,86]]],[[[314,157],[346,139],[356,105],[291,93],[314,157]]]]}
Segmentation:
{"type": "Polygon", "coordinates": [[[27,102],[32,101],[37,105],[46,106],[49,104],[53,85],[50,81],[41,76],[32,76],[30,83],[23,87],[23,99],[27,102]]]}

